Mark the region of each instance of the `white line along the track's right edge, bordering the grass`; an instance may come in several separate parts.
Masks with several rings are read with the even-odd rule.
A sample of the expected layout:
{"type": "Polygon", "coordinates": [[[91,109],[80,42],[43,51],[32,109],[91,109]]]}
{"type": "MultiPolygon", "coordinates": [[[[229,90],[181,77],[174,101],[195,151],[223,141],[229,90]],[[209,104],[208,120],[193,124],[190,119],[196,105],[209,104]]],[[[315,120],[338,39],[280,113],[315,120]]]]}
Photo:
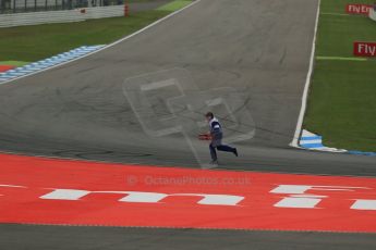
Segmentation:
{"type": "Polygon", "coordinates": [[[322,1],[318,0],[317,13],[316,13],[316,23],[315,23],[315,34],[314,34],[314,39],[313,39],[313,42],[312,42],[311,59],[310,59],[310,70],[308,70],[308,74],[307,74],[307,77],[306,77],[306,80],[305,80],[305,87],[304,87],[304,91],[303,91],[302,108],[301,108],[301,112],[299,114],[294,138],[292,139],[292,141],[290,143],[290,146],[294,147],[294,148],[300,148],[299,147],[299,137],[300,137],[300,135],[302,133],[302,126],[303,126],[303,120],[304,120],[304,115],[305,115],[305,111],[306,111],[306,104],[307,104],[311,78],[312,78],[313,67],[314,67],[314,62],[315,62],[317,26],[318,26],[318,17],[319,17],[319,11],[320,11],[320,3],[322,3],[322,1]]]}

